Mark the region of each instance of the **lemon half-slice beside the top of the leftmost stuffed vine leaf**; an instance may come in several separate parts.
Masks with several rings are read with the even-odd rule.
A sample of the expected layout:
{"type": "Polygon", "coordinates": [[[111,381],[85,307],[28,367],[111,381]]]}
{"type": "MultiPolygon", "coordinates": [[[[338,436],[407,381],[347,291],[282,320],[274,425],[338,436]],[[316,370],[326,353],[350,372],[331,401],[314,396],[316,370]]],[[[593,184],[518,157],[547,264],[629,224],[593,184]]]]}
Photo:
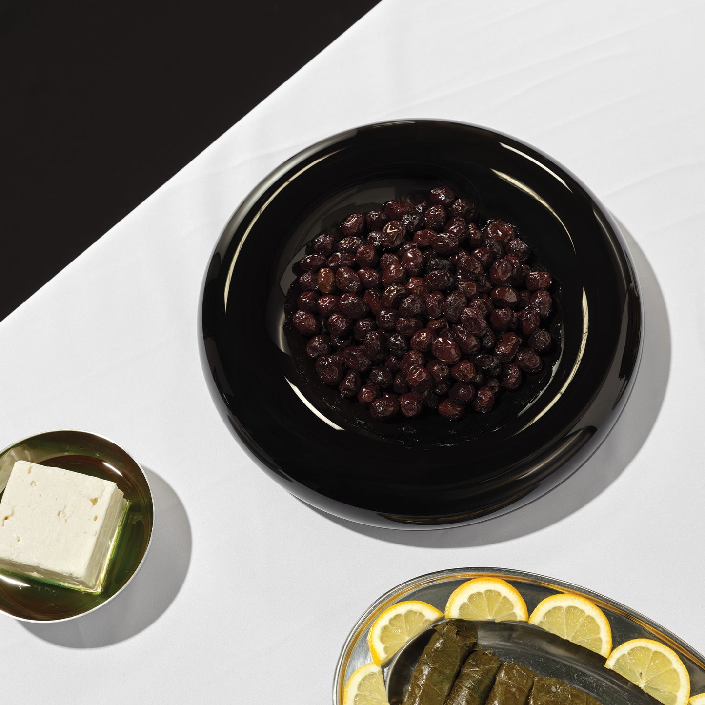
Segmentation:
{"type": "Polygon", "coordinates": [[[441,617],[443,613],[434,606],[416,600],[386,608],[369,627],[367,644],[372,661],[378,666],[386,663],[411,637],[441,617]]]}

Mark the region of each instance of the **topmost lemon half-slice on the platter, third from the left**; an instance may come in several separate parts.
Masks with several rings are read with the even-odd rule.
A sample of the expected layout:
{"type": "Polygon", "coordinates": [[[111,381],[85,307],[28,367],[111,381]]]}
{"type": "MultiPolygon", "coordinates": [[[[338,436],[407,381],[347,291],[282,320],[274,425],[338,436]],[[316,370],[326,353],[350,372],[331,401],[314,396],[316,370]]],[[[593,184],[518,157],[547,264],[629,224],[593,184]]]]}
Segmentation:
{"type": "Polygon", "coordinates": [[[524,598],[508,582],[498,577],[477,577],[450,594],[446,617],[525,622],[529,613],[524,598]]]}

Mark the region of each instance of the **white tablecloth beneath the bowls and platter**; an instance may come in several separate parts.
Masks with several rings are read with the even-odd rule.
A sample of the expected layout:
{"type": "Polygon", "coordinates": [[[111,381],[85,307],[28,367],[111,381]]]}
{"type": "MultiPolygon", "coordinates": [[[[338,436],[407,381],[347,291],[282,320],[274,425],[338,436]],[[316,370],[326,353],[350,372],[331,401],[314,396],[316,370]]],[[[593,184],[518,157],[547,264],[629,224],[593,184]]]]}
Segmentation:
{"type": "MultiPolygon", "coordinates": [[[[0,446],[109,436],[149,470],[158,512],[142,572],[102,610],[0,617],[3,692],[328,703],[369,603],[472,565],[583,585],[705,652],[704,20],[686,0],[383,0],[0,323],[0,446]],[[322,137],[409,117],[487,125],[580,176],[625,229],[646,310],[632,398],[588,464],[533,505],[437,532],[287,494],[221,421],[197,349],[202,276],[247,192],[322,137]]],[[[223,90],[256,69],[214,67],[223,90]]]]}

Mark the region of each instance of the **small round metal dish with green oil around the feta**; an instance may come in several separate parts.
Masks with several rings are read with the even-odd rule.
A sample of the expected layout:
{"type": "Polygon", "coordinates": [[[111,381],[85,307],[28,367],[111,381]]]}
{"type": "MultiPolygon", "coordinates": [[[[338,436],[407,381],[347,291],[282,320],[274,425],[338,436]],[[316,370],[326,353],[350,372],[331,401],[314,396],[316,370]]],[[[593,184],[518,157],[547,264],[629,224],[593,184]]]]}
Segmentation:
{"type": "Polygon", "coordinates": [[[25,622],[61,622],[96,610],[133,579],[152,542],[154,505],[140,464],[113,441],[87,431],[49,431],[0,453],[0,496],[16,460],[63,467],[115,482],[130,502],[103,590],[90,594],[0,572],[0,612],[25,622]]]}

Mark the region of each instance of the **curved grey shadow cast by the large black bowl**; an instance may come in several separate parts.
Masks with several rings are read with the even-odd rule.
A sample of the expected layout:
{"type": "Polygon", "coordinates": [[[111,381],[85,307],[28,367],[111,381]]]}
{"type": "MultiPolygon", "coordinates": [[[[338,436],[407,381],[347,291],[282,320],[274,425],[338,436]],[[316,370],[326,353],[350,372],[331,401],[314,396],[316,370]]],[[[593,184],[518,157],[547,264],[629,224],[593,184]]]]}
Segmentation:
{"type": "Polygon", "coordinates": [[[670,326],[661,287],[636,240],[621,221],[617,223],[639,277],[644,304],[644,347],[631,398],[611,433],[582,467],[531,503],[463,527],[426,532],[383,529],[314,510],[341,527],[381,541],[422,548],[465,548],[497,544],[537,532],[568,517],[608,489],[649,437],[666,395],[670,369],[670,326]]]}

